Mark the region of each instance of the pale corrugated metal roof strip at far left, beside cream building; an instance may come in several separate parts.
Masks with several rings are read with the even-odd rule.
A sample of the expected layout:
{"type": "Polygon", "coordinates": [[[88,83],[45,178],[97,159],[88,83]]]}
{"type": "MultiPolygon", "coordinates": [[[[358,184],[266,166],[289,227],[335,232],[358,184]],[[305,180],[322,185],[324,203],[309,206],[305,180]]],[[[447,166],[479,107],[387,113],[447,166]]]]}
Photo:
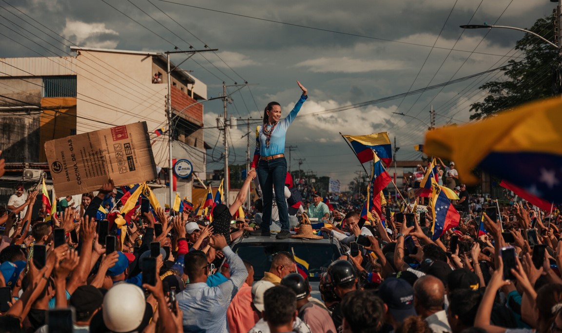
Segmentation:
{"type": "Polygon", "coordinates": [[[47,75],[76,75],[76,58],[0,58],[0,72],[2,72],[0,73],[0,77],[42,77],[47,75]]]}

